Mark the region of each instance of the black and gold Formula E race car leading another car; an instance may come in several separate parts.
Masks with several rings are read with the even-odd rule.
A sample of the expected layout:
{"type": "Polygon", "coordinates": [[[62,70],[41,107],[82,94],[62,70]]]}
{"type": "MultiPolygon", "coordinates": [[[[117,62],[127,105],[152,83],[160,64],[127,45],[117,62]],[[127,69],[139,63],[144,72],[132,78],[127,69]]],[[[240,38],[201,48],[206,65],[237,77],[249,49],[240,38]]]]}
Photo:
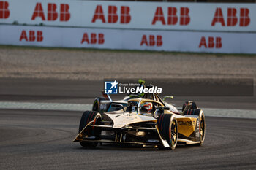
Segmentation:
{"type": "Polygon", "coordinates": [[[111,106],[121,109],[83,112],[74,142],[83,147],[107,142],[174,150],[178,142],[202,145],[205,140],[205,117],[194,101],[187,102],[179,112],[157,93],[146,93],[143,98],[129,99],[127,107],[116,103],[111,106]]]}

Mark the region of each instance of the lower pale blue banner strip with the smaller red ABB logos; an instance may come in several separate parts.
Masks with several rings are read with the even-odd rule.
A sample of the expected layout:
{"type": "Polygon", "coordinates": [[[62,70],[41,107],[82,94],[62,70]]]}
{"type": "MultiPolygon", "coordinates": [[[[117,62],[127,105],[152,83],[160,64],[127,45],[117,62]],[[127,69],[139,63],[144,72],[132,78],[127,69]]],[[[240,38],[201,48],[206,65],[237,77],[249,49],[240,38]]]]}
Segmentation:
{"type": "Polygon", "coordinates": [[[0,25],[0,45],[256,54],[256,33],[0,25]]]}

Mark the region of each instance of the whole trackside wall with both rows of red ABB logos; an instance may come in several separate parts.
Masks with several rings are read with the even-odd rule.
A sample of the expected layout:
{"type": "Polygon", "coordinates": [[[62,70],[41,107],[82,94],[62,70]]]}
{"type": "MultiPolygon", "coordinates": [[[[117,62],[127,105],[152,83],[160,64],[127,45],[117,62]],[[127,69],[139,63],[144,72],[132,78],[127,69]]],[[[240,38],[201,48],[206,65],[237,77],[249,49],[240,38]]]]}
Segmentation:
{"type": "Polygon", "coordinates": [[[0,0],[0,44],[256,53],[256,4],[0,0]]]}

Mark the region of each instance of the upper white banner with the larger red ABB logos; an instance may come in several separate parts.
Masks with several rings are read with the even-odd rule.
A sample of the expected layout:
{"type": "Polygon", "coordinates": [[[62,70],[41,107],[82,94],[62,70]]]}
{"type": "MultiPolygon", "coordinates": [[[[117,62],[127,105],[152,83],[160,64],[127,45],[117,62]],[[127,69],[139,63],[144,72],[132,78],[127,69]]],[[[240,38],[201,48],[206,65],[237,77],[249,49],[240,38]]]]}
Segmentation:
{"type": "Polygon", "coordinates": [[[0,0],[0,23],[167,31],[256,31],[256,4],[0,0]]]}

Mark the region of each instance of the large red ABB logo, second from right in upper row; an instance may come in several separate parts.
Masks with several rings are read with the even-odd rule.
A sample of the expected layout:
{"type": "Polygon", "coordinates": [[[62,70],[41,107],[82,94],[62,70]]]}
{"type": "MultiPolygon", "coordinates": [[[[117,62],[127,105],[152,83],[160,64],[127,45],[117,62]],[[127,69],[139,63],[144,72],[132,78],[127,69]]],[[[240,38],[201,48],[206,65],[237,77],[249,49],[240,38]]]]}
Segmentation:
{"type": "MultiPolygon", "coordinates": [[[[164,12],[162,12],[162,7],[157,7],[157,10],[154,14],[154,18],[152,20],[152,25],[156,24],[157,21],[161,22],[162,25],[176,25],[178,23],[178,15],[177,15],[177,8],[176,7],[168,7],[168,15],[167,20],[165,21],[164,12]]],[[[179,17],[179,24],[181,26],[187,26],[190,22],[189,17],[189,8],[188,7],[181,7],[180,9],[180,17],[179,17]]]]}

